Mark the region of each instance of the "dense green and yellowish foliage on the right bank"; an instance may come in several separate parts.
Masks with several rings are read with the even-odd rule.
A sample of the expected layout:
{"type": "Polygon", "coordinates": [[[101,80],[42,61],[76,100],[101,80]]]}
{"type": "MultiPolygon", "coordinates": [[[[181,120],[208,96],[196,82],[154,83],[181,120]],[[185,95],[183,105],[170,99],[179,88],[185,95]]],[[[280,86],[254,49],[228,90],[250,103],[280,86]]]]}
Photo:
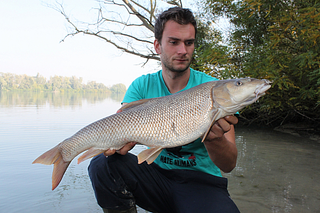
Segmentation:
{"type": "MultiPolygon", "coordinates": [[[[213,19],[232,23],[227,44],[239,77],[266,78],[272,88],[246,109],[267,123],[320,119],[320,3],[307,0],[207,0],[213,19]],[[259,106],[259,108],[256,108],[259,106]]],[[[212,56],[216,54],[214,51],[212,56]]]]}

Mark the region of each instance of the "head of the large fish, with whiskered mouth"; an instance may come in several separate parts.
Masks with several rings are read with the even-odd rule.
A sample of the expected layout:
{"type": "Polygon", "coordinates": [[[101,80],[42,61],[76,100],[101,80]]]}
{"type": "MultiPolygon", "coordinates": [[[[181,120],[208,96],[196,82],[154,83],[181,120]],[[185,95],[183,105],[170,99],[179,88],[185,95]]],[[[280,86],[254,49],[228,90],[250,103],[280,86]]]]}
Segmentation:
{"type": "Polygon", "coordinates": [[[214,103],[225,112],[235,113],[256,102],[271,87],[270,81],[256,78],[220,80],[212,89],[214,103]]]}

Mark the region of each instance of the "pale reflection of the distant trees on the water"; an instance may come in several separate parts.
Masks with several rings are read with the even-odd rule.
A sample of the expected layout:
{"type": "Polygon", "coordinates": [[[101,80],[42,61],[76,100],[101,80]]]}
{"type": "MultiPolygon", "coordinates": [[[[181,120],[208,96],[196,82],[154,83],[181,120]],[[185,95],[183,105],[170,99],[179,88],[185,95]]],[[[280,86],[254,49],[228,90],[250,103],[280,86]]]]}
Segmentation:
{"type": "Polygon", "coordinates": [[[125,94],[80,93],[80,92],[3,92],[0,91],[0,105],[35,105],[49,104],[54,107],[81,106],[83,100],[99,103],[105,99],[121,102],[125,94]]]}

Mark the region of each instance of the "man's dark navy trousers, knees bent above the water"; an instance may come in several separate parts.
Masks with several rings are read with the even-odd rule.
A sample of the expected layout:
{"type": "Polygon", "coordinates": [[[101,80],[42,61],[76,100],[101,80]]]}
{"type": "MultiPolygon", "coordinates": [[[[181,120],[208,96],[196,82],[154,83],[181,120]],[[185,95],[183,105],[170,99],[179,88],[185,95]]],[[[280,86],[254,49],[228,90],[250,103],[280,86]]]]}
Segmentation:
{"type": "Polygon", "coordinates": [[[227,178],[189,169],[138,164],[136,155],[97,155],[88,167],[97,203],[106,209],[138,205],[149,212],[239,212],[227,178]]]}

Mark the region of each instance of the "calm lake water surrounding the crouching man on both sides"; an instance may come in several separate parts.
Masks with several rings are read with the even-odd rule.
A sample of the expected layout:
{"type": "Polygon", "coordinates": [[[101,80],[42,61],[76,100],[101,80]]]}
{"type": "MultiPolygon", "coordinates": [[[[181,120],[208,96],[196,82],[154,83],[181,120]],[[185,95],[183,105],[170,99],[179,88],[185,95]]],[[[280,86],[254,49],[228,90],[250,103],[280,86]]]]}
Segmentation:
{"type": "MultiPolygon", "coordinates": [[[[31,162],[116,112],[121,100],[106,94],[1,92],[0,212],[102,212],[88,178],[89,160],[72,161],[54,191],[53,167],[31,162]]],[[[236,136],[237,167],[223,176],[241,212],[320,212],[318,142],[238,126],[236,136]]]]}

